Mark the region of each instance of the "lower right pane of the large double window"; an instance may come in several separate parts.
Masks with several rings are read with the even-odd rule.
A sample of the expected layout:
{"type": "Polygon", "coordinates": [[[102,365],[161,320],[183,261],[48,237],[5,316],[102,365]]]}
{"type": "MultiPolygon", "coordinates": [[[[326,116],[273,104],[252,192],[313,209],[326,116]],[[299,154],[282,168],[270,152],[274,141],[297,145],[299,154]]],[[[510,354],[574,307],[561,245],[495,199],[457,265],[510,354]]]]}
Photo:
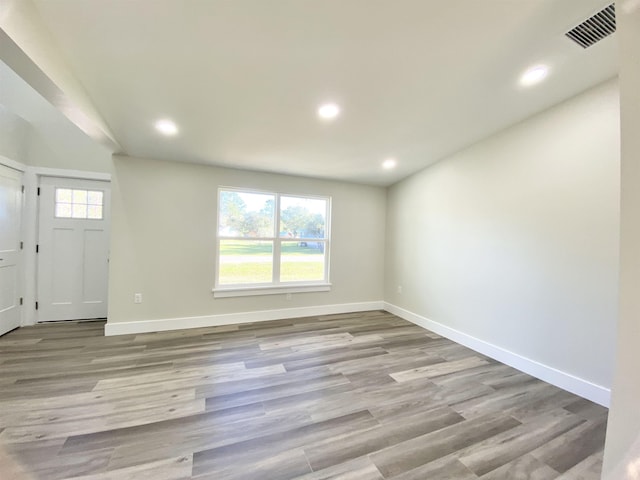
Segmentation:
{"type": "Polygon", "coordinates": [[[281,282],[324,280],[324,242],[282,242],[281,282]]]}

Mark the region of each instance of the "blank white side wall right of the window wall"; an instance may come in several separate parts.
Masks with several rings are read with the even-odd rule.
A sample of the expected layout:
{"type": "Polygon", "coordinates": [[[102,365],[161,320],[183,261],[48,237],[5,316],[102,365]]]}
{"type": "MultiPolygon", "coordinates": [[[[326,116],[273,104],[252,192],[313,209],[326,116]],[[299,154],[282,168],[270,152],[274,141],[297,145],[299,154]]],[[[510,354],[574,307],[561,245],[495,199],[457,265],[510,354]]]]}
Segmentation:
{"type": "Polygon", "coordinates": [[[608,396],[618,111],[611,80],[390,188],[385,300],[608,396]]]}

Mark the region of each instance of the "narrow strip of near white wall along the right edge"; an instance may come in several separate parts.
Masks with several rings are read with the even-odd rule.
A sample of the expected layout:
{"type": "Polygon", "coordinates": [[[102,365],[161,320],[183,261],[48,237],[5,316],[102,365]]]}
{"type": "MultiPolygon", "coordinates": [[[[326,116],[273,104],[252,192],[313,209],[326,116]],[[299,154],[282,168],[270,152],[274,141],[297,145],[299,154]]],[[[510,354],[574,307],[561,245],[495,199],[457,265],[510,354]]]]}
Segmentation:
{"type": "Polygon", "coordinates": [[[620,317],[602,478],[640,479],[640,3],[616,3],[622,191],[620,317]]]}

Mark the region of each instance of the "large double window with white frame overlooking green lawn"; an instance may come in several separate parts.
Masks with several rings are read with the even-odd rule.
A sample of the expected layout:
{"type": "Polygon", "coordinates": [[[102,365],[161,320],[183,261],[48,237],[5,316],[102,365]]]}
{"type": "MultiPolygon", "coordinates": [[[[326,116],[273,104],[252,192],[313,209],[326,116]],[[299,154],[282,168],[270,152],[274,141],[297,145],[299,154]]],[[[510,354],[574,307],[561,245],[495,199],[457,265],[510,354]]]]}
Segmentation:
{"type": "Polygon", "coordinates": [[[330,204],[220,188],[216,296],[328,290],[330,204]]]}

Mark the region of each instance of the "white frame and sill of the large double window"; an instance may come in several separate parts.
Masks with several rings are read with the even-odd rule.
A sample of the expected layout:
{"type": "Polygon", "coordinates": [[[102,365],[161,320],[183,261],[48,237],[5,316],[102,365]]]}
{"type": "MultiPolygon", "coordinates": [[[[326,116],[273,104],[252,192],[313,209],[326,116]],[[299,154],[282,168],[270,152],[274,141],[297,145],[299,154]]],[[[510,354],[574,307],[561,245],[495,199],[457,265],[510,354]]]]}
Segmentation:
{"type": "Polygon", "coordinates": [[[218,187],[215,242],[215,287],[212,289],[215,298],[242,297],[253,295],[277,295],[303,292],[326,292],[331,290],[329,281],[329,265],[331,251],[331,197],[322,195],[306,195],[299,193],[273,192],[239,187],[218,187]],[[232,237],[220,235],[220,194],[225,192],[256,193],[274,196],[274,228],[273,237],[232,237]],[[280,197],[308,198],[326,202],[324,238],[290,238],[280,237],[280,197]],[[220,241],[221,240],[264,240],[273,242],[273,269],[271,282],[220,285],[220,241]],[[317,281],[280,282],[280,259],[282,242],[324,242],[324,279],[317,281]]]}

